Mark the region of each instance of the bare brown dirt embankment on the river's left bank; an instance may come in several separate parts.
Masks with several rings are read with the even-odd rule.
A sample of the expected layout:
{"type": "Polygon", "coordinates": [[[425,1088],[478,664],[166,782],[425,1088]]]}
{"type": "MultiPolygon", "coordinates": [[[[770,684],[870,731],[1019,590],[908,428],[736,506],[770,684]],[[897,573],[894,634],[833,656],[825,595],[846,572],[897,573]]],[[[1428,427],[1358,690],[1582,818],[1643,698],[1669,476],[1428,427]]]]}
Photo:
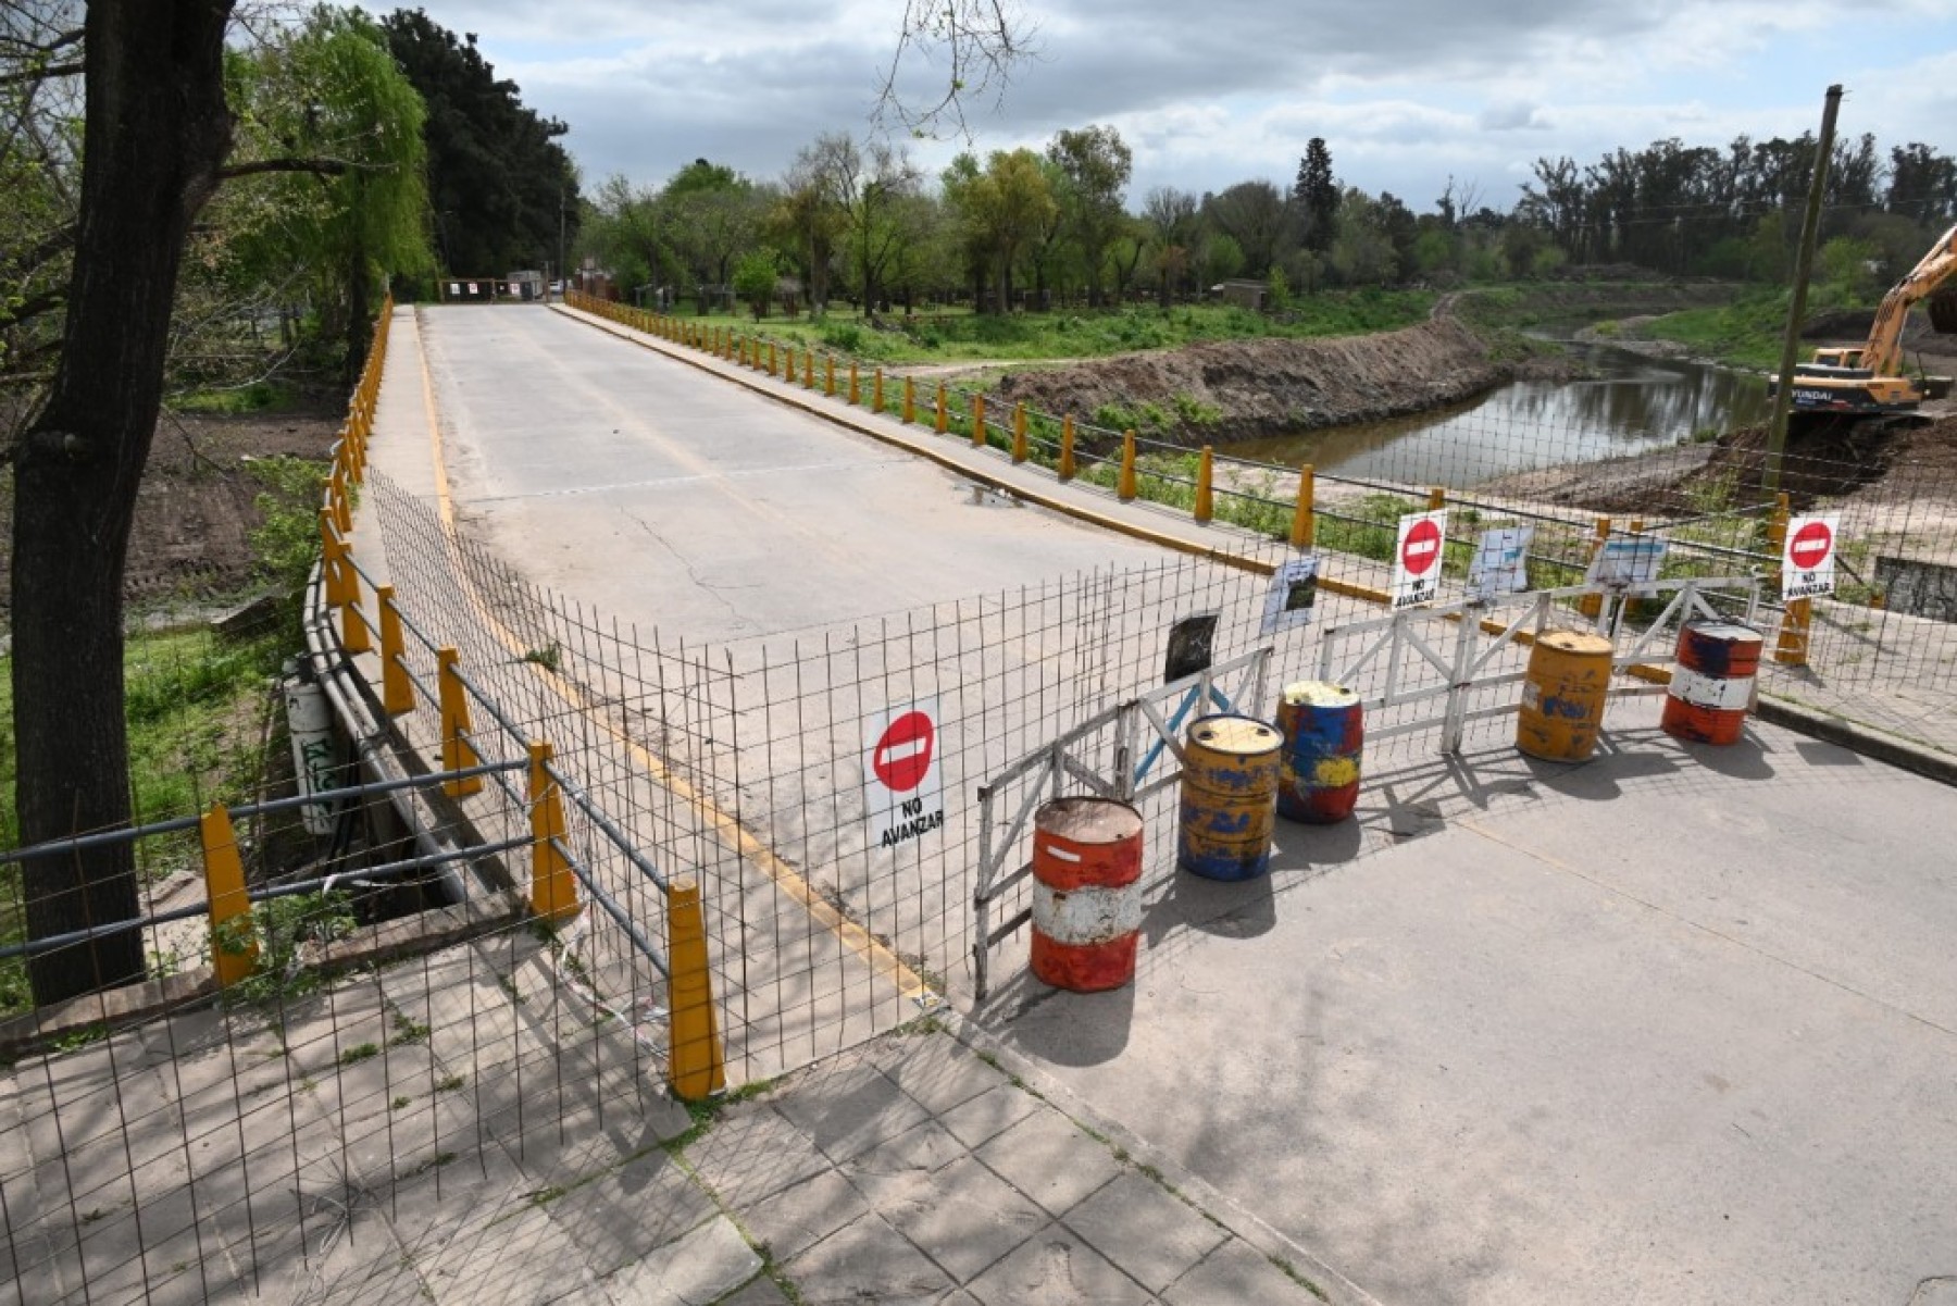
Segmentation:
{"type": "Polygon", "coordinates": [[[994,394],[1088,421],[1102,409],[1157,405],[1174,421],[1157,435],[1223,444],[1401,417],[1468,399],[1515,376],[1450,317],[1327,341],[1211,341],[1121,354],[1055,370],[1008,372],[994,394]]]}

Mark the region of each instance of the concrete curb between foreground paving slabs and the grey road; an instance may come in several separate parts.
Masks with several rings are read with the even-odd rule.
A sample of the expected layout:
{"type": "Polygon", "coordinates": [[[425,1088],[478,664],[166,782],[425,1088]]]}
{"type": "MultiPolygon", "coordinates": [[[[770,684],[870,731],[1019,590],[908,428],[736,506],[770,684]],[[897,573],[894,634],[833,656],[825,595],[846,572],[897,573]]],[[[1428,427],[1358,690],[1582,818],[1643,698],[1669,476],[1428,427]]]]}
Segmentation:
{"type": "Polygon", "coordinates": [[[1098,1134],[1112,1145],[1125,1151],[1129,1161],[1145,1169],[1157,1183],[1204,1216],[1225,1226],[1231,1234],[1256,1249],[1258,1255],[1280,1265],[1280,1269],[1284,1265],[1292,1267],[1292,1271],[1309,1281],[1307,1286],[1321,1300],[1331,1306],[1382,1306],[1380,1298],[1372,1296],[1311,1251],[1299,1247],[1296,1241],[1264,1224],[1260,1216],[1245,1210],[1235,1198],[1225,1196],[1207,1181],[1190,1175],[1180,1163],[1162,1155],[1162,1151],[1147,1140],[1135,1136],[1119,1122],[1110,1120],[1082,1102],[1072,1089],[1055,1081],[1037,1063],[1022,1057],[963,1012],[943,1008],[933,1014],[951,1038],[959,1040],[959,1044],[963,1044],[969,1051],[994,1061],[1002,1071],[1018,1079],[1025,1091],[1039,1096],[1076,1126],[1098,1134]]]}

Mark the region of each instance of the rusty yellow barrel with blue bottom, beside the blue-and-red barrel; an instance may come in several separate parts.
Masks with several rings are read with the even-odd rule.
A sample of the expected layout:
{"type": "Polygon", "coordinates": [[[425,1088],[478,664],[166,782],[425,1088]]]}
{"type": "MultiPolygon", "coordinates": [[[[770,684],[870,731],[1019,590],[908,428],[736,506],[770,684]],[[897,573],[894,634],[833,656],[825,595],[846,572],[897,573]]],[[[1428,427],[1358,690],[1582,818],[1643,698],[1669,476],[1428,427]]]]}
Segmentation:
{"type": "Polygon", "coordinates": [[[1182,744],[1176,865],[1204,879],[1270,869],[1284,736],[1252,717],[1200,717],[1182,744]]]}

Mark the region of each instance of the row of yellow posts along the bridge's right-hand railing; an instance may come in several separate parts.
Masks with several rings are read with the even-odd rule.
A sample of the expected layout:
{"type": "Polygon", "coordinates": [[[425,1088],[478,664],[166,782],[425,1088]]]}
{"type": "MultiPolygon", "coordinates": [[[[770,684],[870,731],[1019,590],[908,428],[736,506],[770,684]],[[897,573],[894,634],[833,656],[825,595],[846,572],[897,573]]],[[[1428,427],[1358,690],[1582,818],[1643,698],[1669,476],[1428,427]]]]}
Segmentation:
{"type": "MultiPolygon", "coordinates": [[[[779,372],[783,376],[783,380],[789,380],[791,384],[795,382],[795,349],[793,347],[789,347],[789,350],[787,350],[787,362],[777,368],[775,345],[773,343],[767,345],[767,352],[763,354],[761,341],[755,341],[751,337],[744,337],[734,327],[710,327],[710,325],[699,323],[697,319],[671,317],[671,315],[665,315],[665,313],[648,313],[646,309],[626,307],[622,303],[613,303],[609,300],[597,300],[597,298],[575,294],[575,292],[568,294],[566,302],[569,302],[573,307],[579,307],[579,309],[583,309],[587,313],[597,313],[601,317],[609,317],[609,319],[613,319],[613,321],[616,321],[620,325],[634,327],[638,331],[644,331],[648,335],[656,335],[656,337],[671,341],[675,345],[683,345],[683,347],[691,347],[691,349],[703,349],[703,350],[706,350],[706,352],[710,352],[710,354],[714,354],[718,358],[724,358],[728,362],[738,362],[740,366],[750,366],[750,368],[755,368],[755,370],[765,370],[769,374],[777,374],[779,372]]],[[[830,397],[834,397],[836,396],[836,358],[826,358],[824,360],[824,372],[828,376],[826,394],[830,397]]],[[[873,397],[873,407],[879,413],[885,411],[885,405],[883,405],[883,382],[885,382],[883,368],[877,368],[875,376],[873,376],[873,396],[875,396],[873,397]]],[[[812,390],[814,388],[814,350],[812,349],[804,349],[802,350],[802,388],[804,390],[812,390]]],[[[859,397],[859,392],[857,392],[857,364],[855,362],[849,364],[849,392],[847,394],[849,394],[849,405],[851,407],[855,407],[855,405],[861,403],[861,397],[859,397]]],[[[971,441],[973,441],[975,448],[982,448],[986,444],[986,411],[984,409],[986,409],[984,396],[982,394],[973,394],[969,397],[967,421],[971,425],[971,441]]],[[[912,380],[904,378],[904,423],[910,425],[914,421],[916,421],[914,388],[912,388],[912,380]]],[[[951,429],[951,401],[949,401],[949,392],[947,392],[947,388],[945,388],[943,382],[937,384],[937,401],[933,405],[933,427],[935,427],[937,435],[947,435],[949,429],[951,429]]],[[[1027,460],[1027,456],[1029,456],[1029,446],[1027,444],[1029,444],[1029,441],[1027,441],[1027,411],[1025,411],[1025,403],[1018,403],[1018,405],[1014,405],[1014,411],[1012,411],[1012,460],[1014,462],[1025,462],[1027,460]]],[[[1061,444],[1059,444],[1059,456],[1055,460],[1055,474],[1063,482],[1072,480],[1078,474],[1076,456],[1074,456],[1074,419],[1072,419],[1072,415],[1065,417],[1063,423],[1061,423],[1061,444]]],[[[1215,484],[1213,482],[1215,482],[1215,450],[1213,450],[1213,446],[1204,444],[1204,448],[1200,452],[1200,458],[1198,458],[1198,464],[1196,464],[1196,501],[1192,505],[1192,517],[1196,521],[1207,523],[1215,515],[1215,484]]],[[[1139,497],[1139,491],[1141,491],[1139,444],[1137,444],[1135,433],[1133,431],[1125,431],[1121,435],[1121,460],[1119,460],[1119,472],[1115,476],[1115,495],[1123,503],[1127,503],[1127,501],[1139,497]]],[[[1317,493],[1315,472],[1313,472],[1311,464],[1305,464],[1305,466],[1301,466],[1297,470],[1297,497],[1296,497],[1294,505],[1292,505],[1292,529],[1288,533],[1292,548],[1311,548],[1315,544],[1315,536],[1317,536],[1315,493],[1317,493]]],[[[1433,490],[1429,493],[1427,507],[1429,509],[1446,507],[1446,493],[1442,490],[1438,490],[1438,488],[1433,490]]],[[[1789,519],[1789,505],[1787,505],[1787,495],[1783,493],[1779,497],[1779,505],[1775,507],[1773,519],[1769,523],[1769,546],[1775,550],[1775,556],[1779,556],[1779,550],[1781,550],[1783,540],[1787,536],[1787,519],[1789,519]]],[[[1642,523],[1632,523],[1632,531],[1642,531],[1642,523]]],[[[1591,556],[1595,556],[1595,552],[1599,548],[1603,548],[1603,542],[1607,538],[1611,538],[1611,519],[1609,517],[1599,517],[1597,523],[1595,523],[1595,536],[1591,540],[1591,556]]],[[[1331,582],[1331,580],[1321,580],[1319,583],[1321,583],[1321,587],[1331,589],[1335,593],[1350,593],[1354,597],[1364,597],[1364,599],[1378,601],[1378,603],[1386,603],[1388,601],[1388,595],[1384,591],[1372,589],[1368,585],[1350,585],[1350,583],[1341,583],[1341,582],[1331,582]]],[[[1581,599],[1581,603],[1579,603],[1581,611],[1585,615],[1589,615],[1589,617],[1597,617],[1603,611],[1601,605],[1603,605],[1603,595],[1591,595],[1591,597],[1581,599]]],[[[1793,599],[1793,601],[1787,603],[1787,615],[1781,621],[1779,648],[1775,652],[1775,660],[1777,662],[1783,662],[1783,664],[1789,664],[1789,666],[1806,666],[1806,654],[1808,654],[1808,621],[1810,621],[1810,617],[1812,617],[1812,601],[1808,601],[1808,599],[1793,599]]]]}

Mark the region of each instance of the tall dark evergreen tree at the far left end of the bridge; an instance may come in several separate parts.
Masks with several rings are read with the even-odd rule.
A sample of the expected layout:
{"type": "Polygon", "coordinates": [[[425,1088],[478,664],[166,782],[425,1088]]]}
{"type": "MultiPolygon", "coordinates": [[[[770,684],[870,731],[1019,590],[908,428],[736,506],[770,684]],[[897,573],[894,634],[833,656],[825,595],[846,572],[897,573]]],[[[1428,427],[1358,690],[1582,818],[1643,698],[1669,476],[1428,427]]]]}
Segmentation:
{"type": "Polygon", "coordinates": [[[395,61],[429,104],[429,204],[446,270],[501,276],[558,264],[577,235],[568,127],[524,108],[476,49],[421,10],[382,20],[395,61]]]}

